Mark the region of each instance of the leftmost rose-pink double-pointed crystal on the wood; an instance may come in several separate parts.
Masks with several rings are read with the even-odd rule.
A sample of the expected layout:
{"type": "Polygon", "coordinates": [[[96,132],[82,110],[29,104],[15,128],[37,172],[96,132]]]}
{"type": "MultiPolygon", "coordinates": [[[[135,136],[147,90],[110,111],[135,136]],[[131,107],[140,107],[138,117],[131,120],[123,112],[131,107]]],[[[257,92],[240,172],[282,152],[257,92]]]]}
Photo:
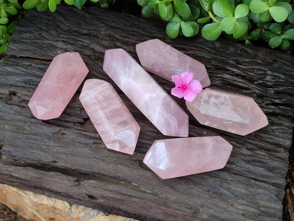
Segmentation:
{"type": "Polygon", "coordinates": [[[28,103],[34,116],[41,120],[59,117],[88,72],[78,53],[54,57],[28,103]]]}

